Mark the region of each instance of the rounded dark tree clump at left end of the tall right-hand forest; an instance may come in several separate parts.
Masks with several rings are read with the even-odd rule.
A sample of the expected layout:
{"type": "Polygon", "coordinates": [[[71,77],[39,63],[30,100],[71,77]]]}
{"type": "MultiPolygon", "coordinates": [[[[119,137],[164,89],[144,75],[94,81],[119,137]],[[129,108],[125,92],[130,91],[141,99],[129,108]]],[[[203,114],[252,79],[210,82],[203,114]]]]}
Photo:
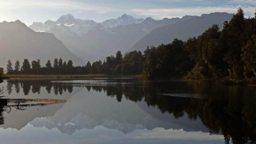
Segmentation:
{"type": "Polygon", "coordinates": [[[143,68],[146,77],[181,77],[194,66],[182,40],[174,39],[171,44],[147,48],[147,59],[143,68]]]}

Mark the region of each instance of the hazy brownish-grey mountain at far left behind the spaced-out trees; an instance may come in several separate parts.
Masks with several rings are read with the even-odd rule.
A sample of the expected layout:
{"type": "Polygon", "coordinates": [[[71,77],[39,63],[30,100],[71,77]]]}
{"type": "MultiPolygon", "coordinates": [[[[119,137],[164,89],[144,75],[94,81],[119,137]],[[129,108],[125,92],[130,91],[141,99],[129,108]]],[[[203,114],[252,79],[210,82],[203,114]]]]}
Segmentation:
{"type": "Polygon", "coordinates": [[[40,59],[44,66],[46,61],[62,58],[72,60],[74,65],[83,65],[83,60],[72,54],[53,34],[35,32],[19,20],[0,23],[0,67],[6,67],[10,59],[21,63],[25,58],[30,62],[40,59]]]}

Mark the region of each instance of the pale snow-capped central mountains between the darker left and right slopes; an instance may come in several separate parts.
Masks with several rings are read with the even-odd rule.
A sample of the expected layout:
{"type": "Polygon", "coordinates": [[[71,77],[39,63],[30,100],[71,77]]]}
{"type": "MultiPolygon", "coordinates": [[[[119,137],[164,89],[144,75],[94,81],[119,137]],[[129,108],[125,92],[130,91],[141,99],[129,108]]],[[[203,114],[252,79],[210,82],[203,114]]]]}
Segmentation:
{"type": "Polygon", "coordinates": [[[138,40],[157,27],[175,24],[195,16],[154,20],[136,19],[123,14],[117,19],[102,23],[74,18],[71,14],[63,15],[56,21],[35,22],[29,26],[37,32],[54,34],[67,48],[82,58],[83,61],[104,60],[115,55],[116,51],[128,51],[138,40]]]}

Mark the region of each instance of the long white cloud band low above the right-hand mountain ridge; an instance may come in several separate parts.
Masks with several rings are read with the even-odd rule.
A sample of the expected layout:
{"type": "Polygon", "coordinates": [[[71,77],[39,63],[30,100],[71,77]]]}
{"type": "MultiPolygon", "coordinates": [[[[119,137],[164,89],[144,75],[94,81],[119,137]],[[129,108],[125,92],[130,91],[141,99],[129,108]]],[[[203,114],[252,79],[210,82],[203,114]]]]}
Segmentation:
{"type": "Polygon", "coordinates": [[[227,12],[236,13],[237,8],[243,8],[246,16],[253,16],[255,7],[219,6],[219,7],[189,7],[189,8],[162,8],[162,9],[131,9],[131,12],[142,16],[152,16],[157,19],[182,17],[184,15],[200,16],[204,13],[227,12]]]}

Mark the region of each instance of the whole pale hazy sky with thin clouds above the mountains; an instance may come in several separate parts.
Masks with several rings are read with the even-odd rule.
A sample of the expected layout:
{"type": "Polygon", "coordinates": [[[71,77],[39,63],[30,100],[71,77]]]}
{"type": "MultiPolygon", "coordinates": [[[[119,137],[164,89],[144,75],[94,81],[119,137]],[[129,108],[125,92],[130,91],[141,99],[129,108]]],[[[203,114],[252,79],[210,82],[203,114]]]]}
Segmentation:
{"type": "Polygon", "coordinates": [[[256,0],[0,0],[0,21],[19,19],[30,25],[34,21],[55,21],[67,13],[96,22],[123,13],[136,18],[163,19],[211,12],[235,13],[239,7],[247,17],[254,17],[256,0]]]}

